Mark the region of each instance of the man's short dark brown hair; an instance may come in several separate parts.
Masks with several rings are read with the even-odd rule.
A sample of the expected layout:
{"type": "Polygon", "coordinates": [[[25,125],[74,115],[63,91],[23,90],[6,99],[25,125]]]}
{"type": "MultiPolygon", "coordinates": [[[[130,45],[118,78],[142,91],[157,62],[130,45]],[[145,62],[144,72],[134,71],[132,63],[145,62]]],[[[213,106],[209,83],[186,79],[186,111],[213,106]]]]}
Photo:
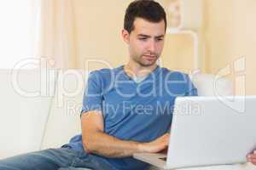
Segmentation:
{"type": "Polygon", "coordinates": [[[133,23],[137,17],[154,23],[164,20],[167,26],[165,9],[154,0],[136,0],[130,3],[125,12],[124,23],[124,28],[129,33],[134,30],[133,23]]]}

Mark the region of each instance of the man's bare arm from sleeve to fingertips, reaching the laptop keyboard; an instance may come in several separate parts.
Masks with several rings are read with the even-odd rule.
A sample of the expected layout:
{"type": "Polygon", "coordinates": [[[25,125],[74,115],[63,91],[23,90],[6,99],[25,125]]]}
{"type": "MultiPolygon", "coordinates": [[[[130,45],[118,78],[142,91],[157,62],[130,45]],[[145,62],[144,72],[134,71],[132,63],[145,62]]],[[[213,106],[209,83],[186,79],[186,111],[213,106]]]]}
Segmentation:
{"type": "Polygon", "coordinates": [[[84,150],[106,157],[127,157],[134,153],[156,153],[166,149],[169,134],[161,136],[149,143],[121,140],[104,133],[102,113],[88,111],[81,116],[82,139],[84,150]]]}

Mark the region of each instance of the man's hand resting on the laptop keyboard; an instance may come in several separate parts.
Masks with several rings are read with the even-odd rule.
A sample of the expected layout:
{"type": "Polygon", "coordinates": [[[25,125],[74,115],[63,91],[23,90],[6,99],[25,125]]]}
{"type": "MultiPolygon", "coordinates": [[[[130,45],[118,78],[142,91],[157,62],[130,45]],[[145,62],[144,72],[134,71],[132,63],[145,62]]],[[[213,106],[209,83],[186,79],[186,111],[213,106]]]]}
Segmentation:
{"type": "Polygon", "coordinates": [[[169,144],[170,134],[166,133],[163,136],[160,136],[158,139],[154,139],[149,143],[140,144],[140,150],[142,152],[148,153],[157,153],[161,150],[165,150],[169,144]]]}

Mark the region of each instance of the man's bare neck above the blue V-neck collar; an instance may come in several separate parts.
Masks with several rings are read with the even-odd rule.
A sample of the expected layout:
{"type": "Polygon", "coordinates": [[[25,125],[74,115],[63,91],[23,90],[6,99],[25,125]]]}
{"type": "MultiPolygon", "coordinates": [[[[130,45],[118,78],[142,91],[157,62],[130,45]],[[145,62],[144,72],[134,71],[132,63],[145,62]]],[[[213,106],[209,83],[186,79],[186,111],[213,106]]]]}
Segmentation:
{"type": "Polygon", "coordinates": [[[156,64],[150,66],[139,65],[133,61],[129,61],[124,69],[129,77],[147,77],[157,67],[156,64]]]}

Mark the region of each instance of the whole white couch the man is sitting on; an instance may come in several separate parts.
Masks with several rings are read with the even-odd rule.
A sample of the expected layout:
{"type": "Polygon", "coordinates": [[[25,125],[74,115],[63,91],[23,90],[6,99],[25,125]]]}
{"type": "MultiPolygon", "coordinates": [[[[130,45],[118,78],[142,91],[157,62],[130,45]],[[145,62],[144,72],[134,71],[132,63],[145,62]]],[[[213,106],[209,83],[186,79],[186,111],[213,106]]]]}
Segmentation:
{"type": "MultiPolygon", "coordinates": [[[[0,70],[0,159],[60,147],[80,133],[87,77],[82,70],[0,70]]],[[[190,78],[199,95],[232,94],[232,83],[224,78],[200,72],[190,78]]],[[[229,168],[255,169],[251,164],[201,169],[229,168]]]]}

